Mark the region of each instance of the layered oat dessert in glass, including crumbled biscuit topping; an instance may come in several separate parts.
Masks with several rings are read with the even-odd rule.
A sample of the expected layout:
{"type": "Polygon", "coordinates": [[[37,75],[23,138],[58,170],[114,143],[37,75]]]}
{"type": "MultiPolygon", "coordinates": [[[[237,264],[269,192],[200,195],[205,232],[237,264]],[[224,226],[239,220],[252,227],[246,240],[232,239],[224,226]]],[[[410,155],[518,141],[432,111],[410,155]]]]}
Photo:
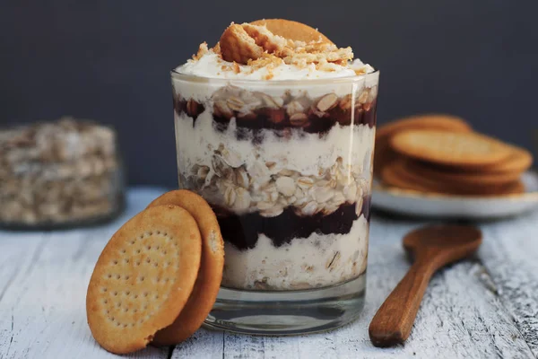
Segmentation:
{"type": "Polygon", "coordinates": [[[315,298],[321,308],[344,295],[360,311],[378,72],[314,31],[304,39],[271,21],[232,23],[172,72],[179,186],[213,206],[225,241],[227,304],[217,301],[215,316],[238,302],[262,318],[253,329],[228,317],[221,328],[321,328],[282,329],[260,309],[277,302],[315,298]]]}

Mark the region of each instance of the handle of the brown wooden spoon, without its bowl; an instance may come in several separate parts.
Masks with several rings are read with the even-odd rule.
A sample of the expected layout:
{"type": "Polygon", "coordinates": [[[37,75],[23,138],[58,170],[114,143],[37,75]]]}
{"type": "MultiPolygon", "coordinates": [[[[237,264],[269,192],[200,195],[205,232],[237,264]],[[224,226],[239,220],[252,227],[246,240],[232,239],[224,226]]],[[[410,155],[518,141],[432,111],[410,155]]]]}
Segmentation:
{"type": "Polygon", "coordinates": [[[409,268],[370,323],[369,337],[374,346],[395,346],[409,337],[434,272],[435,268],[426,260],[418,260],[409,268]]]}

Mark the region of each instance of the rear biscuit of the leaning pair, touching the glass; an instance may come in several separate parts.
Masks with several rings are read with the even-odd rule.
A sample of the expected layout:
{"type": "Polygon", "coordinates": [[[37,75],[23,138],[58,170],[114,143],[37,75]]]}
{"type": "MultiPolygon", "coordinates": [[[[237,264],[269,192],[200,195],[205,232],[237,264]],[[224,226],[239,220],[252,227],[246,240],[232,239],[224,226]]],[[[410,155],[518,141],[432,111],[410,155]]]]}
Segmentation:
{"type": "Polygon", "coordinates": [[[185,208],[195,218],[202,234],[202,262],[185,308],[172,325],[155,334],[153,343],[160,346],[178,344],[202,326],[219,293],[224,267],[221,229],[211,206],[204,198],[194,192],[178,189],[158,197],[148,207],[165,204],[185,208]]]}

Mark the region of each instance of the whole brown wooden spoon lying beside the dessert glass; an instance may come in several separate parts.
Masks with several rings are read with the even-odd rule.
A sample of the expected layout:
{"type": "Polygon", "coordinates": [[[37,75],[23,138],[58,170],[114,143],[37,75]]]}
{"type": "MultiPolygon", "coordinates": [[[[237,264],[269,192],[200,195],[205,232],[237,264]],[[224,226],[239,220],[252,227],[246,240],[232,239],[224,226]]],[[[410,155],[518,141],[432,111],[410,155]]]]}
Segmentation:
{"type": "Polygon", "coordinates": [[[404,248],[415,262],[377,311],[369,326],[374,346],[404,343],[421,305],[430,277],[440,268],[472,255],[482,243],[482,232],[471,226],[435,225],[404,237],[404,248]]]}

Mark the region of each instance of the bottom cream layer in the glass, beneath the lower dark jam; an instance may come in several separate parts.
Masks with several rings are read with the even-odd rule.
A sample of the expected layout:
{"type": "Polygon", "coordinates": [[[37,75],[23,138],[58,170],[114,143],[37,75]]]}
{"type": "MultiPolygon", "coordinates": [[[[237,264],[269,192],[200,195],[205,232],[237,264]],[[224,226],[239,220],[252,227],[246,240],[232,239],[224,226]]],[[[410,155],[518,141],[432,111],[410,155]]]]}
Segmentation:
{"type": "Polygon", "coordinates": [[[312,233],[278,248],[264,234],[251,250],[238,250],[225,242],[222,285],[299,290],[342,283],[366,269],[368,240],[369,223],[361,215],[347,234],[312,233]]]}

